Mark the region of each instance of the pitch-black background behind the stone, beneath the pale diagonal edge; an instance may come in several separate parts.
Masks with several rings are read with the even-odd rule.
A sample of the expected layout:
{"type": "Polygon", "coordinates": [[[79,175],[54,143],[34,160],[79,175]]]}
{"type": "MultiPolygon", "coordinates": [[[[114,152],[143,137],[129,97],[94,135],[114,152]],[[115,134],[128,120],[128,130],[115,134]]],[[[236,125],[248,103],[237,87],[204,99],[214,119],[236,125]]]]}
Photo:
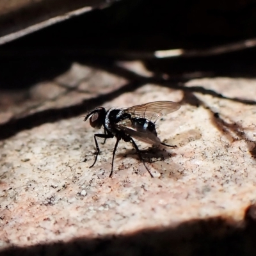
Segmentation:
{"type": "MultiPolygon", "coordinates": [[[[1,88],[24,88],[52,79],[71,63],[122,60],[127,51],[205,49],[253,38],[256,1],[123,0],[84,13],[0,47],[1,88]],[[118,53],[111,53],[111,51],[118,53]]],[[[140,56],[138,57],[140,59],[140,56]]],[[[170,75],[255,76],[255,49],[208,56],[147,60],[170,75]]]]}

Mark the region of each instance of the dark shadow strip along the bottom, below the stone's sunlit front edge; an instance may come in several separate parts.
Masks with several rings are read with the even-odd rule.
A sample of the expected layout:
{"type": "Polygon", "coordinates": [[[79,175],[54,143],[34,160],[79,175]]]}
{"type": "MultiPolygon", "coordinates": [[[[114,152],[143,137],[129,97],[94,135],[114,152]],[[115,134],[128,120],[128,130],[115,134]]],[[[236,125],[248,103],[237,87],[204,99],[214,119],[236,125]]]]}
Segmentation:
{"type": "Polygon", "coordinates": [[[255,205],[246,210],[244,223],[235,227],[232,220],[221,218],[193,220],[174,228],[152,228],[129,235],[79,238],[27,248],[13,246],[0,255],[255,255],[255,205]]]}

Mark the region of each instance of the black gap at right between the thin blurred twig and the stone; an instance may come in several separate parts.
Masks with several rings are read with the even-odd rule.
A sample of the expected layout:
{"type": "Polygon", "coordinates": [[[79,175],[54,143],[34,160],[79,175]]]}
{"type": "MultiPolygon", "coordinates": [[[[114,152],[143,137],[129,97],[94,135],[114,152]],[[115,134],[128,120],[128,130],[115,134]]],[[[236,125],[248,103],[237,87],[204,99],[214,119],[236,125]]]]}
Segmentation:
{"type": "Polygon", "coordinates": [[[146,61],[148,69],[170,76],[198,72],[202,77],[255,77],[256,49],[216,56],[146,61]]]}

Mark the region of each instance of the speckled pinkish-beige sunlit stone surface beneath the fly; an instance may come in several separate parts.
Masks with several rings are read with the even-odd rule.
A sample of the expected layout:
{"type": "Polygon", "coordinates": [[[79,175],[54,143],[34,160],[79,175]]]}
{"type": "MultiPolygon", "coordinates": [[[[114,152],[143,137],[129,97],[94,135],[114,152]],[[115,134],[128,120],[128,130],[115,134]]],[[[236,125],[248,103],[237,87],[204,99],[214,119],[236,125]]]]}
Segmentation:
{"type": "MultiPolygon", "coordinates": [[[[129,63],[121,66],[130,67],[129,63]]],[[[135,69],[141,76],[150,76],[138,66],[135,69]]],[[[127,86],[126,78],[77,63],[51,83],[36,84],[29,99],[23,99],[22,93],[18,101],[10,96],[12,104],[1,107],[1,123],[6,125],[11,118],[19,122],[25,116],[25,121],[33,123],[33,115],[38,118],[38,113],[84,104],[81,115],[56,121],[49,118],[51,123],[44,117],[44,124],[36,121],[20,131],[10,126],[13,135],[0,141],[1,250],[75,241],[78,247],[73,244],[70,248],[74,246],[77,255],[104,255],[97,254],[100,238],[106,239],[99,242],[102,252],[134,255],[138,251],[132,250],[132,244],[140,246],[136,237],[143,246],[149,243],[162,252],[154,247],[159,237],[165,245],[168,239],[177,244],[173,252],[190,255],[195,252],[195,236],[204,240],[211,234],[219,239],[244,227],[246,209],[256,199],[256,79],[193,79],[176,88],[145,83],[109,98],[122,86],[127,86]],[[137,141],[153,179],[132,145],[124,141],[118,145],[113,177],[108,177],[115,139],[99,143],[98,161],[89,168],[95,157],[93,134],[98,131],[83,122],[83,116],[98,106],[91,99],[104,94],[106,100],[100,99],[106,108],[156,100],[182,104],[157,122],[159,138],[177,148],[146,150],[148,145],[137,141]],[[146,235],[141,238],[143,232],[146,235]],[[155,236],[148,235],[150,232],[156,232],[155,236]],[[112,243],[113,236],[122,238],[116,238],[112,248],[106,244],[112,243]],[[124,237],[131,243],[125,252],[121,249],[124,237]],[[182,249],[182,239],[190,239],[192,245],[182,249]]],[[[220,246],[220,240],[216,244],[220,246]]],[[[44,248],[42,255],[55,255],[54,250],[56,255],[63,250],[66,254],[62,255],[72,255],[73,249],[70,254],[66,250],[69,247],[59,244],[51,251],[51,246],[44,248]]],[[[148,255],[154,254],[148,250],[148,255]]]]}

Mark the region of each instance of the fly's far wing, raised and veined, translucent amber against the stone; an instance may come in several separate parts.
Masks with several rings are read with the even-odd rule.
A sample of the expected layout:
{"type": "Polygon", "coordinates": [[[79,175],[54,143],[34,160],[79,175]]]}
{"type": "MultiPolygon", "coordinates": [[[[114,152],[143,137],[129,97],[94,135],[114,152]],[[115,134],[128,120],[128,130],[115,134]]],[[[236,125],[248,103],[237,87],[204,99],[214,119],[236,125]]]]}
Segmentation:
{"type": "Polygon", "coordinates": [[[131,108],[124,109],[125,112],[134,116],[147,118],[151,122],[156,122],[163,115],[170,114],[180,108],[180,104],[172,101],[155,101],[146,104],[136,105],[131,108]]]}

